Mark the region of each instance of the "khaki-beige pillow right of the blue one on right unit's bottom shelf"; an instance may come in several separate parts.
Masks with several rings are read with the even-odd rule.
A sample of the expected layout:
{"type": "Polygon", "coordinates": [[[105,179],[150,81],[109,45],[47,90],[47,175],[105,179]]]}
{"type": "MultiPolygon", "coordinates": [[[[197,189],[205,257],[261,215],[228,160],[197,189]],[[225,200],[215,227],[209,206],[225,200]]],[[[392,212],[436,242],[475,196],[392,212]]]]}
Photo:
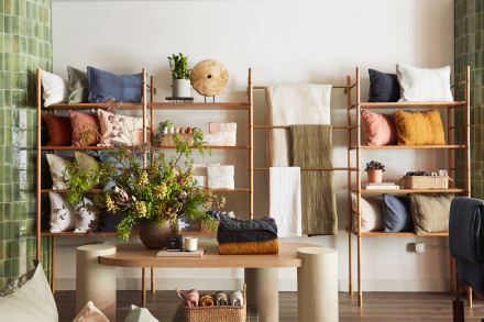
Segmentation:
{"type": "Polygon", "coordinates": [[[449,231],[453,193],[410,195],[411,219],[417,234],[449,231]]]}

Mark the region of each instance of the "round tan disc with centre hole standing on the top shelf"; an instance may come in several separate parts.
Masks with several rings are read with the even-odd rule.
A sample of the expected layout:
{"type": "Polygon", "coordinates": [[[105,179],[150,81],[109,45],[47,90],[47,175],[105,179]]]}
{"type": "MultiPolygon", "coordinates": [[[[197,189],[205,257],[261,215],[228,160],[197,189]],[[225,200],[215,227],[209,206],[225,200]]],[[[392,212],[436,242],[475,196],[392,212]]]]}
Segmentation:
{"type": "Polygon", "coordinates": [[[229,73],[221,63],[207,59],[191,69],[191,86],[202,96],[216,96],[226,90],[229,73]]]}

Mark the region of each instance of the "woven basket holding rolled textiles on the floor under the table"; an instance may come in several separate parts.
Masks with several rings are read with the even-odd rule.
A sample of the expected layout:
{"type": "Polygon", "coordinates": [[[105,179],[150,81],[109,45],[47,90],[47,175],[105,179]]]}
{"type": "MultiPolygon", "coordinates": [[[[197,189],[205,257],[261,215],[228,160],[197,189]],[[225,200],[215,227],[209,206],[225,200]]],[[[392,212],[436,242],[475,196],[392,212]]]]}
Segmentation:
{"type": "MultiPolygon", "coordinates": [[[[248,304],[245,296],[245,285],[242,297],[244,300],[243,307],[231,306],[215,306],[215,307],[185,307],[185,322],[245,322],[248,314],[248,304]]],[[[182,302],[185,304],[186,299],[179,289],[176,289],[182,302]]]]}

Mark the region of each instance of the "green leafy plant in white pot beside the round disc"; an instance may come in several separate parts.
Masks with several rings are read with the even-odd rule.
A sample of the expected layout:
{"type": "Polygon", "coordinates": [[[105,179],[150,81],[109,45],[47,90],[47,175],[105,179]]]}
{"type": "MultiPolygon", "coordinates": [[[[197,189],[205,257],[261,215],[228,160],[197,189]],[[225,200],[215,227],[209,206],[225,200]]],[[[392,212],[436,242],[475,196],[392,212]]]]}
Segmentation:
{"type": "Polygon", "coordinates": [[[173,54],[168,57],[169,68],[172,68],[172,96],[175,98],[190,97],[190,75],[191,69],[188,69],[188,56],[179,53],[173,54]]]}

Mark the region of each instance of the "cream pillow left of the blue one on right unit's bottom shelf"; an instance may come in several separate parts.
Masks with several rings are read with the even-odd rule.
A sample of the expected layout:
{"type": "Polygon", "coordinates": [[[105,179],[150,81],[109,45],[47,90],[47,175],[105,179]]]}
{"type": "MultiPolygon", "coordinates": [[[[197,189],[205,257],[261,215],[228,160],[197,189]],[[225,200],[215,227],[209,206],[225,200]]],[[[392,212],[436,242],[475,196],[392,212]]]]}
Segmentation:
{"type": "MultiPolygon", "coordinates": [[[[358,230],[358,196],[351,193],[351,206],[353,210],[353,227],[358,230]]],[[[383,198],[361,198],[361,231],[383,231],[383,198]]]]}

